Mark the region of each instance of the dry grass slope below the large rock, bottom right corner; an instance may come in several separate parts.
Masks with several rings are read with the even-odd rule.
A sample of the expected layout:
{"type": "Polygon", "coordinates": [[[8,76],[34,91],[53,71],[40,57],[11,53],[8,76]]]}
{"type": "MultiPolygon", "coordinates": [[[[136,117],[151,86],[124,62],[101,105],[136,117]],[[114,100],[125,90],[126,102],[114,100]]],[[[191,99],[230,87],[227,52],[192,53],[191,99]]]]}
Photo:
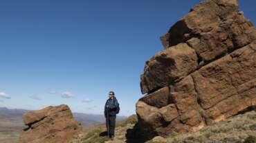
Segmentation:
{"type": "Polygon", "coordinates": [[[256,113],[250,111],[244,115],[237,115],[228,120],[219,122],[212,126],[207,126],[201,131],[187,133],[183,135],[171,135],[167,142],[253,142],[256,137],[256,113]]]}

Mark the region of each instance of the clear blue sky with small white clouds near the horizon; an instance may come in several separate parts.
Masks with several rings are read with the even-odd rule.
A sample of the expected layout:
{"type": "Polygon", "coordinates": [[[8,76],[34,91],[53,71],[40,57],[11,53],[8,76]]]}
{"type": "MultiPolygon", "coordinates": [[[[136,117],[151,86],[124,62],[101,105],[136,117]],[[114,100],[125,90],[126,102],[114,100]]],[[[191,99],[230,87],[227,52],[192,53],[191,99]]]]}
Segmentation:
{"type": "MultiPolygon", "coordinates": [[[[0,107],[68,104],[103,113],[115,91],[120,115],[135,113],[145,61],[159,37],[199,0],[0,1],[0,107]]],[[[256,22],[256,1],[239,1],[256,22]]]]}

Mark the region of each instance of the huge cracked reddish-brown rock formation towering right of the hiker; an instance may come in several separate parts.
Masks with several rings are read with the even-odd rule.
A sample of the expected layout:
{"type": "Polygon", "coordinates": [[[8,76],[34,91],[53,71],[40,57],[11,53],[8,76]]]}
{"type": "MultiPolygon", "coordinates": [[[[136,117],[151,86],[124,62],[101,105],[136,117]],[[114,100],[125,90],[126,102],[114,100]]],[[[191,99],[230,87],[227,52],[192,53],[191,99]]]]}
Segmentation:
{"type": "Polygon", "coordinates": [[[256,105],[256,30],[237,0],[196,5],[161,37],[136,104],[145,135],[196,131],[256,105]]]}

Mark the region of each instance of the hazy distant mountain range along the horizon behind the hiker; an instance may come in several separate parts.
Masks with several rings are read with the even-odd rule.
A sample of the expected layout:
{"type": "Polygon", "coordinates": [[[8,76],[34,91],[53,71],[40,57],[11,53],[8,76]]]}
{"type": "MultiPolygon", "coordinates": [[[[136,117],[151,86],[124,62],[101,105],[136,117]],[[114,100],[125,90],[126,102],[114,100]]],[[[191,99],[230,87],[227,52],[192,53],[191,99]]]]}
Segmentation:
{"type": "MultiPolygon", "coordinates": [[[[0,120],[20,120],[22,122],[22,115],[29,110],[25,109],[8,109],[0,107],[0,120]]],[[[104,115],[88,114],[88,113],[73,113],[74,118],[81,122],[82,125],[100,124],[105,122],[104,115]]],[[[124,120],[125,116],[118,116],[117,120],[124,120]]]]}

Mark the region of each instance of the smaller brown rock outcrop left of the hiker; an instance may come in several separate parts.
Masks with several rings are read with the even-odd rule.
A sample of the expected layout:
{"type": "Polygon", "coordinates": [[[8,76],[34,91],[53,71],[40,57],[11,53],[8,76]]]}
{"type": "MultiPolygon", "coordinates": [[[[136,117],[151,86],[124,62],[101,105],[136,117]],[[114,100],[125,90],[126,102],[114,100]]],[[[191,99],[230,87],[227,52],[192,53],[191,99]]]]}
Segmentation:
{"type": "Polygon", "coordinates": [[[24,113],[23,120],[28,128],[21,133],[20,143],[66,143],[82,131],[64,104],[24,113]]]}

